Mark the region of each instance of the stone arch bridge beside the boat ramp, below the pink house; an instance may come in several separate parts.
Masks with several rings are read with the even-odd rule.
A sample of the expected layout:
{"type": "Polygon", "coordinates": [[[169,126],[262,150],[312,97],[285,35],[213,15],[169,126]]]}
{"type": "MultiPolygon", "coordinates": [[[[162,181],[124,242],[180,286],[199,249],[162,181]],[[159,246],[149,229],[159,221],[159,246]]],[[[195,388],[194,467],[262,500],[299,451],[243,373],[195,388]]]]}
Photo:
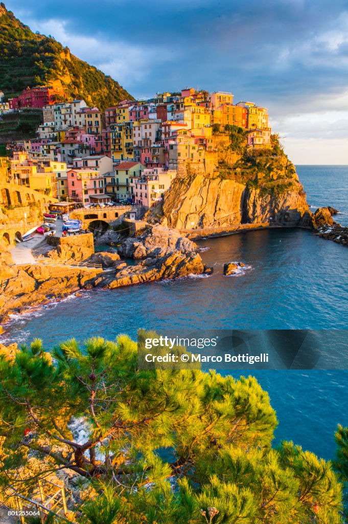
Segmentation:
{"type": "Polygon", "coordinates": [[[91,208],[91,209],[76,209],[69,214],[71,219],[81,220],[82,227],[85,230],[94,231],[95,229],[107,229],[109,226],[118,226],[122,224],[125,219],[125,215],[129,215],[130,212],[139,212],[139,206],[137,205],[115,205],[107,206],[102,209],[91,208]]]}

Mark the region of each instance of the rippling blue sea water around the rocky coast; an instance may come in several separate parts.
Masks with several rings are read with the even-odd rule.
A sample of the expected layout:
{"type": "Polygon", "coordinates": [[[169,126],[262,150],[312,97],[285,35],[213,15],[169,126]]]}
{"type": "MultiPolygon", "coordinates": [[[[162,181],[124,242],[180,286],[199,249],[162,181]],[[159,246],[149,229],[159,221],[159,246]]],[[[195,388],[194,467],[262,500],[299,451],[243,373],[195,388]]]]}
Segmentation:
{"type": "MultiPolygon", "coordinates": [[[[340,212],[335,220],[348,225],[348,166],[297,166],[297,172],[311,209],[331,205],[340,212]]],[[[138,328],[348,329],[347,246],[300,229],[248,232],[199,246],[205,263],[214,267],[211,276],[83,292],[13,315],[0,342],[39,337],[49,350],[72,337],[135,338],[138,328]],[[246,268],[224,277],[223,264],[232,260],[246,268]]],[[[277,413],[274,445],[292,440],[332,459],[335,428],[348,425],[348,370],[253,375],[277,413]]]]}

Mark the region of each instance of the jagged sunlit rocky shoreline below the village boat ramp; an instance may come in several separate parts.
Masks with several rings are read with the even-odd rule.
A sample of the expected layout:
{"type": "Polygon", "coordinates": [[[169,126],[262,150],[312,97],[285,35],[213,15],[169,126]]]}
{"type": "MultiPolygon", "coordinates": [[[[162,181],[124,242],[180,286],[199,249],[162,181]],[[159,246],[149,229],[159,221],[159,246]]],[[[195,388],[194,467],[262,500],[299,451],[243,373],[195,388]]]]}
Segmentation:
{"type": "MultiPolygon", "coordinates": [[[[86,235],[87,236],[87,235],[86,235]]],[[[71,246],[62,249],[43,242],[36,249],[40,263],[10,265],[10,254],[0,260],[0,322],[10,313],[23,313],[34,305],[62,299],[79,290],[93,288],[115,289],[161,279],[188,277],[211,273],[199,255],[196,244],[181,236],[177,230],[157,225],[149,227],[138,237],[127,238],[120,252],[127,258],[140,259],[129,265],[117,253],[100,252],[91,255],[81,237],[76,254],[78,261],[101,267],[74,267],[76,262],[71,246]],[[69,257],[69,258],[66,258],[69,257]]],[[[75,255],[76,255],[75,254],[75,255]]]]}

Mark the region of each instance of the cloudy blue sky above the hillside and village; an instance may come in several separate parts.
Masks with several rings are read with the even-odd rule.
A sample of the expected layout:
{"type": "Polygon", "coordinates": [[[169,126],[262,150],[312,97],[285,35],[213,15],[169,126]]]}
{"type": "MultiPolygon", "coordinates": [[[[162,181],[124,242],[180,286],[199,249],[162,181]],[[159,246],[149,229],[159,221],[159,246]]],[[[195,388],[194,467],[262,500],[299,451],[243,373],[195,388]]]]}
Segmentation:
{"type": "Polygon", "coordinates": [[[348,165],[347,0],[8,0],[134,97],[188,86],[268,108],[296,164],[348,165]]]}

